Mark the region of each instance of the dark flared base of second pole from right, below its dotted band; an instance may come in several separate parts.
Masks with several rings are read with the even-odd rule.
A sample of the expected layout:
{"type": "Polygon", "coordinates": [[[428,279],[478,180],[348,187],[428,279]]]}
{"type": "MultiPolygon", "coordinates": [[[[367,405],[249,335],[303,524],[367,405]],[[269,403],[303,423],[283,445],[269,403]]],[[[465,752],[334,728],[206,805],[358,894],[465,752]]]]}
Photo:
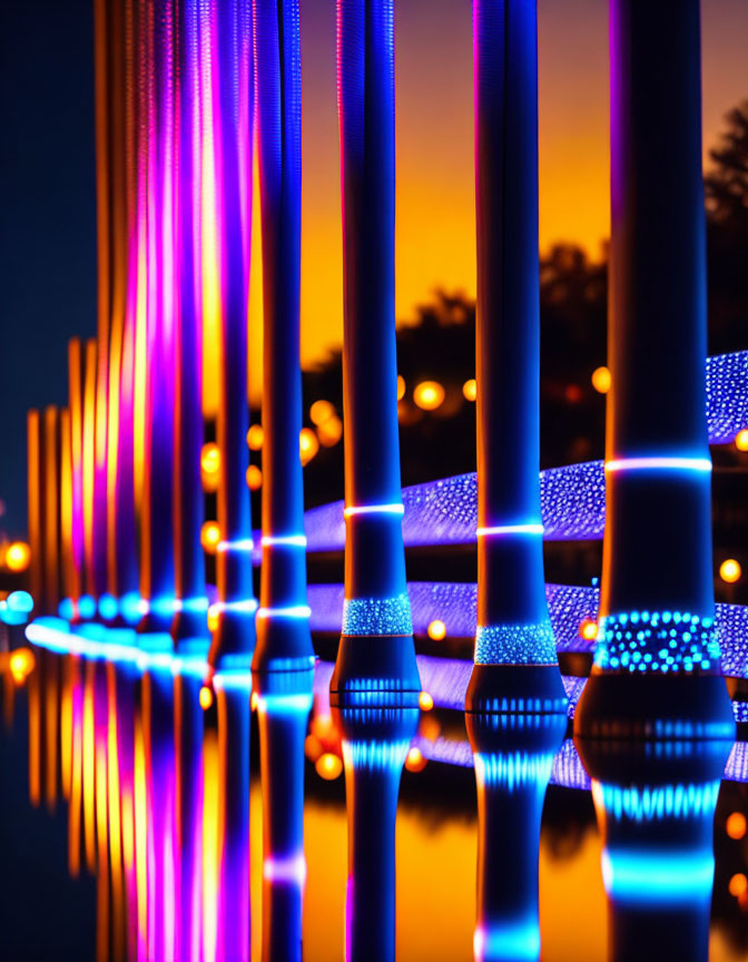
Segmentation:
{"type": "Polygon", "coordinates": [[[473,665],[465,711],[563,715],[567,693],[558,665],[473,665]]]}

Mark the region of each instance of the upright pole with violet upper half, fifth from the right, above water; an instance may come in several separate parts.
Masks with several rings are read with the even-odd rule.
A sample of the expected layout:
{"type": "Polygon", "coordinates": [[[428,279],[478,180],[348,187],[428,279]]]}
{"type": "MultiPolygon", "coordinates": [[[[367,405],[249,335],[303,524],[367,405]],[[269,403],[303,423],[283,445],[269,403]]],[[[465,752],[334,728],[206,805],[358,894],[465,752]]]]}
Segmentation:
{"type": "MultiPolygon", "coordinates": [[[[220,278],[220,371],[217,434],[217,580],[219,617],[211,664],[249,670],[255,648],[252,585],[252,519],[246,472],[247,320],[252,207],[254,69],[252,3],[226,0],[209,4],[209,69],[214,95],[216,217],[220,278]]],[[[204,189],[205,189],[204,185],[204,189]]]]}

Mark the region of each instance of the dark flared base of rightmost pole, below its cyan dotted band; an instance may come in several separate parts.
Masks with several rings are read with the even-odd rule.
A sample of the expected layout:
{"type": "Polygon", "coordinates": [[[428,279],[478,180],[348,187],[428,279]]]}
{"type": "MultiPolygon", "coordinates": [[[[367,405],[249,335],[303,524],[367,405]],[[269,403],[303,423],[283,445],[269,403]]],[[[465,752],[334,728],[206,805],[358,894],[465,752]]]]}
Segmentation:
{"type": "Polygon", "coordinates": [[[579,738],[734,739],[719,675],[593,671],[574,714],[579,738]]]}

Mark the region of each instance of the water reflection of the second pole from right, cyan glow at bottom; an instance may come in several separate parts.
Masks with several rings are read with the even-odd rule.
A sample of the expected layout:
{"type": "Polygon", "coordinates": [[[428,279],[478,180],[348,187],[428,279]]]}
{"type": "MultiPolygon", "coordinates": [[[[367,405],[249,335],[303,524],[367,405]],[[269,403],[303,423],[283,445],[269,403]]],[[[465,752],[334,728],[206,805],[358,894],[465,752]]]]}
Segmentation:
{"type": "Polygon", "coordinates": [[[476,962],[540,958],[538,852],[565,716],[468,713],[478,786],[476,962]]]}

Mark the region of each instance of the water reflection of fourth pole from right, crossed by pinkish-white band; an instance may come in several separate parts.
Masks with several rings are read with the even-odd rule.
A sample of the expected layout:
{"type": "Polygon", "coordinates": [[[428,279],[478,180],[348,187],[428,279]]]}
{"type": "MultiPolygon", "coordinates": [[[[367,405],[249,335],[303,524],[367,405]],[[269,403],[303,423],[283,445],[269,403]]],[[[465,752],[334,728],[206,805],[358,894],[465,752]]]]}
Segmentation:
{"type": "Polygon", "coordinates": [[[257,700],[263,778],[263,962],[301,962],[304,738],[312,670],[272,673],[257,700]]]}

